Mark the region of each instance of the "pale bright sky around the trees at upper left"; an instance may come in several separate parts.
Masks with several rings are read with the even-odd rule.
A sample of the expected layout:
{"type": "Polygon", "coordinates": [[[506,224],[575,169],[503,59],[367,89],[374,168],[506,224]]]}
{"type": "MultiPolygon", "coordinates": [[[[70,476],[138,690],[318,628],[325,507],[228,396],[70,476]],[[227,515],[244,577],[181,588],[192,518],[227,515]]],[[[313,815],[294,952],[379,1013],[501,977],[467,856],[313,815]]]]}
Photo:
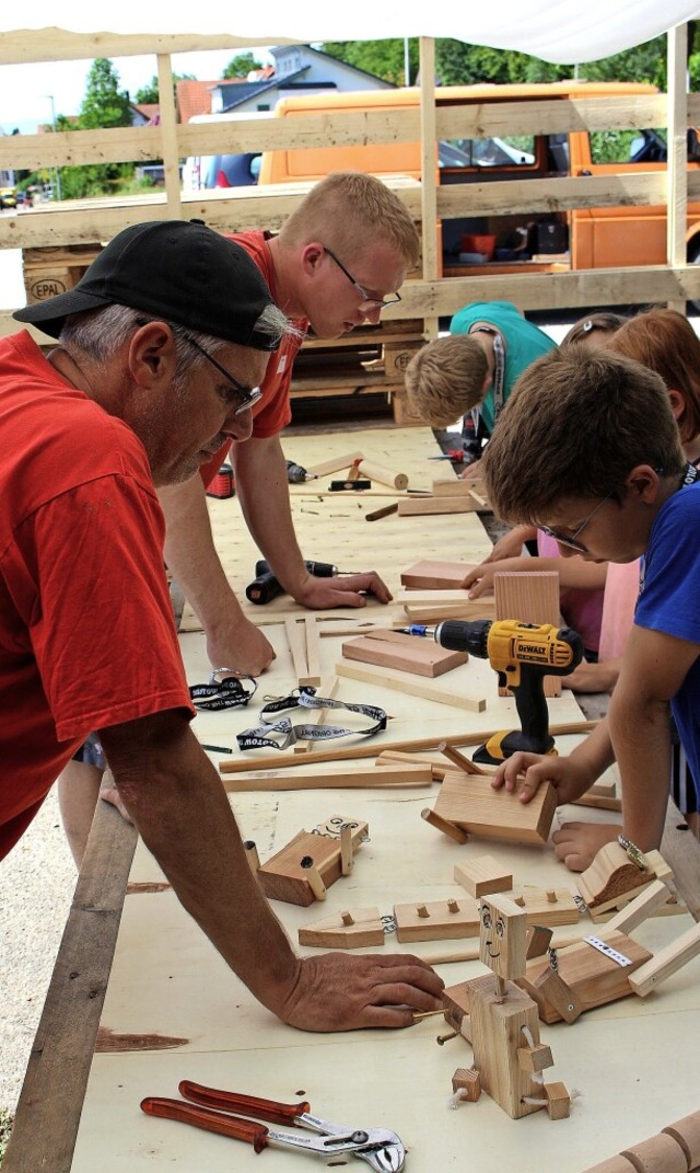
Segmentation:
{"type": "MultiPolygon", "coordinates": [[[[220,77],[222,69],[239,52],[233,49],[212,53],[173,54],[174,73],[193,74],[200,79],[220,77]]],[[[245,50],[247,52],[247,50],[245,50]]],[[[267,60],[266,49],[251,50],[259,61],[267,60]]],[[[156,56],[115,57],[121,89],[133,96],[157,73],[156,56]]],[[[56,115],[77,114],[85,93],[90,61],[59,61],[27,66],[0,66],[0,127],[12,134],[35,134],[40,123],[52,121],[53,95],[56,115]]]]}

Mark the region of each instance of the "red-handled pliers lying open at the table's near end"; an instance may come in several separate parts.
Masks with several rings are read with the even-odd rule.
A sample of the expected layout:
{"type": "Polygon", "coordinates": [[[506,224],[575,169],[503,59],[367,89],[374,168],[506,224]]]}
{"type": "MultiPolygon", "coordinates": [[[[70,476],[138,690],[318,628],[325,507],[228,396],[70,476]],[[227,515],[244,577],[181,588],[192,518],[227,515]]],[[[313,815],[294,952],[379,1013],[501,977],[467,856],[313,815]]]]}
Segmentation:
{"type": "Polygon", "coordinates": [[[190,1079],[183,1079],[178,1091],[191,1103],[149,1096],[142,1100],[142,1110],[149,1116],[181,1120],[183,1124],[192,1124],[208,1132],[246,1140],[253,1145],[256,1153],[261,1153],[267,1145],[280,1145],[325,1158],[335,1157],[337,1153],[351,1153],[368,1161],[377,1173],[399,1173],[404,1167],[405,1150],[396,1132],[390,1132],[389,1128],[348,1128],[342,1124],[330,1124],[317,1116],[311,1116],[310,1105],[306,1100],[301,1104],[279,1104],[276,1100],[260,1099],[256,1096],[203,1087],[190,1079]],[[194,1104],[203,1106],[194,1107],[194,1104]],[[233,1114],[236,1112],[241,1116],[233,1114]],[[255,1118],[273,1124],[309,1128],[320,1135],[304,1137],[298,1132],[277,1132],[259,1124],[255,1118]]]}

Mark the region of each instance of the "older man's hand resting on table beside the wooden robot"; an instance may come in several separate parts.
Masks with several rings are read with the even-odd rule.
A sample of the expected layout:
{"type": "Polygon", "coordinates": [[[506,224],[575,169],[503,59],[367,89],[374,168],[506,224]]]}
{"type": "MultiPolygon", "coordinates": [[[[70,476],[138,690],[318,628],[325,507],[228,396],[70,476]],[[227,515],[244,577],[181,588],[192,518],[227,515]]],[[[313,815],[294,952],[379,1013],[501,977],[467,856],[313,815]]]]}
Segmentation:
{"type": "Polygon", "coordinates": [[[416,1011],[442,1008],[444,985],[410,954],[304,957],[279,1017],[308,1031],[411,1026],[416,1011]]]}

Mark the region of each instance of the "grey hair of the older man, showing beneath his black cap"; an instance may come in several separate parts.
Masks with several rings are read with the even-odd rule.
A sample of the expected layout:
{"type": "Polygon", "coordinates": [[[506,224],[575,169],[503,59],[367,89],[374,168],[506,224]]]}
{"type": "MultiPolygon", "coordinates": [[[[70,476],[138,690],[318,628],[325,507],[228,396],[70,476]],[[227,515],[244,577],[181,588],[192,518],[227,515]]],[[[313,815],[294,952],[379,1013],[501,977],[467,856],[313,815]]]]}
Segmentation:
{"type": "MultiPolygon", "coordinates": [[[[70,314],[61,330],[60,343],[69,354],[80,351],[88,354],[96,362],[107,362],[121,346],[130,338],[135,330],[147,321],[160,321],[153,314],[143,313],[140,310],[132,310],[128,305],[108,305],[103,310],[88,310],[83,313],[70,314]]],[[[176,355],[178,361],[177,375],[173,384],[178,386],[181,379],[200,362],[206,359],[190,345],[187,338],[193,338],[199,346],[211,354],[215,354],[225,346],[229,345],[226,339],[214,338],[195,330],[185,330],[177,323],[169,323],[173,332],[176,344],[176,355]]],[[[289,318],[282,313],[276,305],[265,307],[260,318],[255,323],[255,330],[272,338],[298,338],[301,332],[289,318]]],[[[236,345],[236,344],[233,344],[236,345]]]]}

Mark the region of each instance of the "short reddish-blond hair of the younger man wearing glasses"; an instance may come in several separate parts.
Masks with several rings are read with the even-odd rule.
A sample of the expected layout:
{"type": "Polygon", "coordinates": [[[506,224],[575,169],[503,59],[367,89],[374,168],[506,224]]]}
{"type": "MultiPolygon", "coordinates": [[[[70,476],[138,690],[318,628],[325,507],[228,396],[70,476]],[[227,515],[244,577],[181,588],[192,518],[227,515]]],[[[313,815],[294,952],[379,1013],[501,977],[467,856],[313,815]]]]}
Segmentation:
{"type": "Polygon", "coordinates": [[[380,179],[359,171],[321,179],[284,221],[279,239],[286,248],[318,239],[343,258],[383,242],[406,269],[414,269],[420,257],[420,238],[405,204],[380,179]]]}

